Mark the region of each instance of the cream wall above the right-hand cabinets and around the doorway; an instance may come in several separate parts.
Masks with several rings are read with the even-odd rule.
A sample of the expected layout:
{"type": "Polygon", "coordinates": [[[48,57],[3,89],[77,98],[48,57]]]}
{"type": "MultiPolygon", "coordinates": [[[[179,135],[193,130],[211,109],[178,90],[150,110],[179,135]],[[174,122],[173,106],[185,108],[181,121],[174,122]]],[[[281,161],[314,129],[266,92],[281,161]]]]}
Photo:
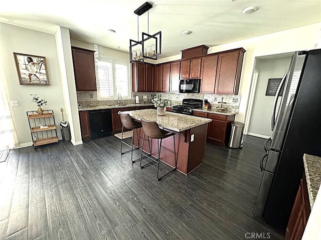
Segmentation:
{"type": "MultiPolygon", "coordinates": [[[[244,122],[245,119],[255,57],[304,49],[313,49],[315,43],[319,41],[318,34],[320,27],[321,22],[241,41],[213,46],[208,49],[208,53],[225,51],[239,47],[243,47],[246,50],[243,59],[239,89],[239,94],[242,95],[242,98],[240,110],[239,113],[236,114],[235,120],[244,122]]],[[[177,59],[181,59],[181,54],[158,59],[157,63],[177,59]]]]}

